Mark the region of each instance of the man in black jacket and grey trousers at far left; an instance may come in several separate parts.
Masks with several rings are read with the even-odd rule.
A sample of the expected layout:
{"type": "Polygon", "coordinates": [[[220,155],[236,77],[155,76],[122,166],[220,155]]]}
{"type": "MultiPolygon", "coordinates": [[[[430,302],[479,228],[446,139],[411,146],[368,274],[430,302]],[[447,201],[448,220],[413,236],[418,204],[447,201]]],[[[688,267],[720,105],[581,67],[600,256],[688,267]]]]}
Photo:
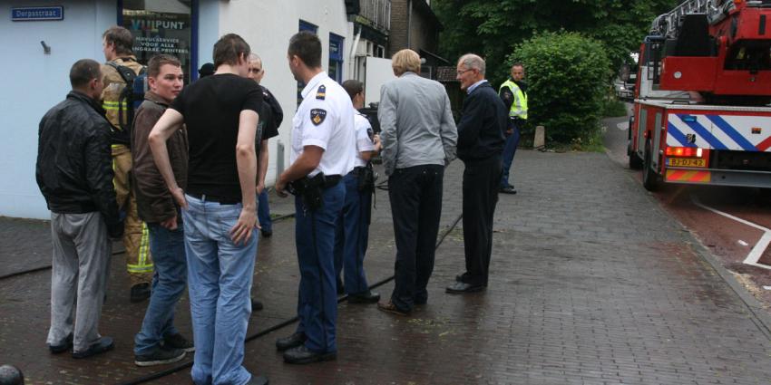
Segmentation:
{"type": "Polygon", "coordinates": [[[122,236],[123,224],[112,188],[110,123],[99,105],[99,63],[74,63],[70,83],[67,99],[40,121],[35,177],[51,210],[54,242],[48,347],[52,353],[72,347],[74,358],[85,358],[112,349],[112,338],[97,330],[110,238],[122,236]]]}

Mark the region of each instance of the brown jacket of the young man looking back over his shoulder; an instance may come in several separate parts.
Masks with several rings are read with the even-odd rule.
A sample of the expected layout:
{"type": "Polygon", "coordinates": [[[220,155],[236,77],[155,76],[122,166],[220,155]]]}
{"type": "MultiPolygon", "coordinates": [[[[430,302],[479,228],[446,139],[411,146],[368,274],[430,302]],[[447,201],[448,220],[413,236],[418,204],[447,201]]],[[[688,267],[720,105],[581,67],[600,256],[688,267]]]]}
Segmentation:
{"type": "MultiPolygon", "coordinates": [[[[177,216],[177,207],[169,188],[155,166],[148,136],[155,123],[169,107],[158,94],[147,91],[144,101],[137,109],[132,130],[132,187],[136,193],[139,217],[148,223],[157,223],[177,216]]],[[[188,133],[184,126],[176,130],[166,141],[171,161],[171,170],[180,188],[187,188],[188,178],[188,133]]],[[[178,219],[181,217],[178,216],[178,219]]]]}

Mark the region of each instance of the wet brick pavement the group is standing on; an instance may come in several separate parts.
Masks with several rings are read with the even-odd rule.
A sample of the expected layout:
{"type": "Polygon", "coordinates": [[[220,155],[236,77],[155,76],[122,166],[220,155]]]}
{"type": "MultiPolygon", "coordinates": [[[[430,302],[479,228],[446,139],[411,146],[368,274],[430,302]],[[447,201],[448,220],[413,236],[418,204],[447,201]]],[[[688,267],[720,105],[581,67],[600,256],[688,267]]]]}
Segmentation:
{"type": "MultiPolygon", "coordinates": [[[[502,195],[495,217],[490,286],[444,294],[464,266],[462,164],[445,174],[442,229],[428,303],[409,317],[341,303],[337,361],[292,366],[275,339],[294,324],[246,343],[245,365],[273,384],[767,384],[767,314],[714,256],[606,154],[520,150],[519,193],[502,195]]],[[[271,197],[272,211],[291,211],[271,197]]],[[[378,191],[366,272],[393,274],[394,238],[378,191]]],[[[249,334],[295,315],[298,266],[292,219],[260,239],[254,294],[266,307],[249,334]]],[[[48,228],[0,220],[0,276],[50,258],[48,228]]],[[[132,341],[144,303],[129,303],[122,255],[112,260],[101,331],[116,348],[75,361],[45,347],[50,271],[0,280],[0,362],[28,383],[126,383],[174,364],[138,368],[132,341]]],[[[376,289],[390,294],[393,284],[376,289]]],[[[190,335],[187,296],[177,325],[190,335]]],[[[185,362],[185,361],[182,361],[185,362]]],[[[189,383],[189,369],[151,383],[189,383]]]]}

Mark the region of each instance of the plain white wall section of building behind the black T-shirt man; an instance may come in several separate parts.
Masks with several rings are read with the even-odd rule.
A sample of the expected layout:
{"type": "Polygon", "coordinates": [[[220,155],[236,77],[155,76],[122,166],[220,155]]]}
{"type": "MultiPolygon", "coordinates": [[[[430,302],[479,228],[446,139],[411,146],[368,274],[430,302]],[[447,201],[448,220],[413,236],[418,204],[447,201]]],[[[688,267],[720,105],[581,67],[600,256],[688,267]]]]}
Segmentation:
{"type": "MultiPolygon", "coordinates": [[[[201,13],[202,14],[202,13],[201,13]]],[[[343,53],[343,79],[347,79],[348,53],[353,38],[352,24],[347,22],[346,6],[342,0],[230,0],[220,3],[220,36],[239,34],[246,39],[251,50],[258,53],[265,67],[262,85],[278,99],[284,110],[284,121],[278,129],[278,137],[270,140],[268,185],[276,180],[278,141],[284,144],[284,165],[289,166],[289,136],[292,117],[297,111],[297,81],[289,72],[287,47],[289,38],[297,34],[299,20],[318,26],[321,39],[321,63],[325,70],[329,63],[329,33],[345,37],[343,53]]],[[[213,42],[211,43],[213,45],[213,42]]],[[[211,45],[208,48],[211,51],[211,45]]],[[[205,52],[202,47],[200,53],[205,52]]],[[[204,62],[200,62],[204,63],[204,62]]]]}

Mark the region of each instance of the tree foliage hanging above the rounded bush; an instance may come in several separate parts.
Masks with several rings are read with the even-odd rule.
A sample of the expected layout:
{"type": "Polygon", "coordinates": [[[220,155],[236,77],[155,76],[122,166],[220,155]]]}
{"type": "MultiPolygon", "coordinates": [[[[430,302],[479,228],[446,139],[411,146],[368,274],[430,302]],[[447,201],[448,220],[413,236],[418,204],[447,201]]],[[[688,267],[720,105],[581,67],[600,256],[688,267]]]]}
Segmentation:
{"type": "Polygon", "coordinates": [[[434,0],[444,24],[440,51],[447,58],[478,53],[488,78],[503,81],[505,58],[534,34],[579,32],[604,43],[613,71],[637,51],[653,18],[682,0],[434,0]]]}

